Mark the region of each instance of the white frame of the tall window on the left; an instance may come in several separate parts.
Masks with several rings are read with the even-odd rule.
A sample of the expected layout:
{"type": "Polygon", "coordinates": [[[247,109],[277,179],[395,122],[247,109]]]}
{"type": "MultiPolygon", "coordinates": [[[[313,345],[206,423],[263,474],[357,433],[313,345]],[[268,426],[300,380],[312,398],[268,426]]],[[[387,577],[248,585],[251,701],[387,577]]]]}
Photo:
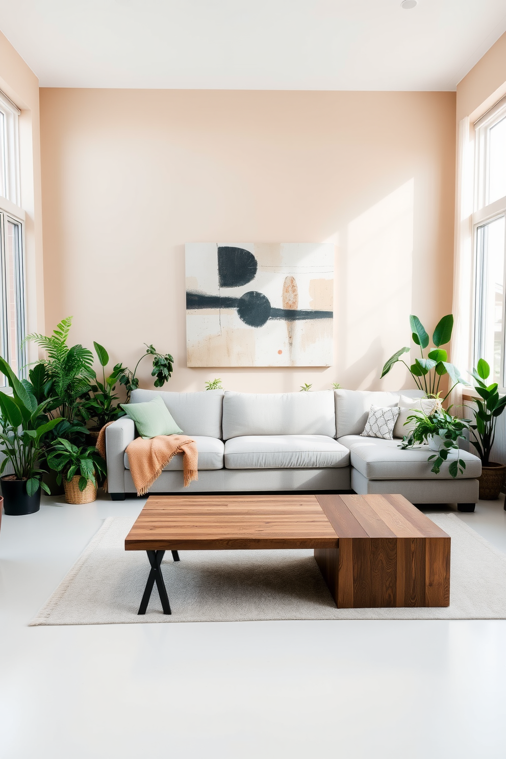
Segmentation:
{"type": "MultiPolygon", "coordinates": [[[[26,376],[27,348],[24,337],[27,333],[27,276],[25,259],[25,213],[21,208],[20,198],[20,146],[19,146],[19,115],[20,110],[8,97],[0,91],[0,330],[5,350],[5,359],[11,363],[14,356],[10,355],[10,345],[15,344],[18,375],[26,376]],[[8,222],[20,228],[19,260],[17,275],[8,268],[6,231],[8,222]],[[20,342],[9,339],[8,330],[8,288],[14,285],[14,298],[18,305],[16,336],[20,342]],[[19,296],[20,297],[17,297],[19,296]]],[[[0,376],[0,386],[5,387],[5,377],[0,376]]]]}

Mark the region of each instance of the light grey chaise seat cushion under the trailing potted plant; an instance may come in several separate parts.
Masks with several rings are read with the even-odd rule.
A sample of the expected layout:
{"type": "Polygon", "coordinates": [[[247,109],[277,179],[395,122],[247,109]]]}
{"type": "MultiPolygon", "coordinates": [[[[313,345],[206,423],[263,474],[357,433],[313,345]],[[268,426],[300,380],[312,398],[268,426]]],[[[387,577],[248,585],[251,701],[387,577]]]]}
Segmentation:
{"type": "MultiPolygon", "coordinates": [[[[360,471],[368,480],[426,480],[432,477],[451,478],[448,473],[450,461],[457,452],[448,455],[448,461],[442,465],[439,474],[433,474],[432,461],[427,461],[434,453],[429,446],[417,446],[403,451],[399,448],[401,440],[382,440],[376,437],[346,435],[338,442],[350,449],[350,464],[360,471]]],[[[464,459],[466,468],[459,477],[479,477],[482,463],[477,456],[467,451],[459,451],[459,458],[464,459]]]]}

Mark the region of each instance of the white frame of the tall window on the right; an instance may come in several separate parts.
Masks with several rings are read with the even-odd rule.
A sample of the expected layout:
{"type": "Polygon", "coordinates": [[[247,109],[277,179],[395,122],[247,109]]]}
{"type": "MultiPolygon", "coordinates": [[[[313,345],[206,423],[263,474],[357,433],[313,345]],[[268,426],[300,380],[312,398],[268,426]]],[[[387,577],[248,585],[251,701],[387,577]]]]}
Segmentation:
{"type": "MultiPolygon", "coordinates": [[[[504,216],[506,225],[506,195],[498,198],[493,203],[489,203],[489,134],[492,127],[498,124],[503,118],[506,118],[506,98],[501,99],[485,115],[474,124],[475,132],[475,157],[474,157],[474,211],[471,216],[473,227],[473,258],[474,258],[474,282],[473,282],[473,364],[479,359],[480,353],[480,324],[479,324],[479,301],[481,300],[481,270],[479,264],[482,257],[478,250],[478,229],[489,222],[500,219],[504,216]]],[[[506,231],[506,230],[505,230],[506,231]]],[[[504,373],[506,370],[506,234],[504,235],[504,282],[503,282],[503,302],[502,302],[502,335],[501,335],[501,382],[499,389],[504,392],[506,379],[504,373]]]]}

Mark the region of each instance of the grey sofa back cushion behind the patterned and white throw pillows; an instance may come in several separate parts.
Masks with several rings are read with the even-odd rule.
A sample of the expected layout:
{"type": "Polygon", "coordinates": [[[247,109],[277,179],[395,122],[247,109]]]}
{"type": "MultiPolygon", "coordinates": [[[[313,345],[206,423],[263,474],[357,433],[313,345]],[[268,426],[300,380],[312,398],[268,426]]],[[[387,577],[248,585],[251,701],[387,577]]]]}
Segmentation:
{"type": "MultiPolygon", "coordinates": [[[[403,390],[410,398],[421,398],[421,390],[403,390]]],[[[397,406],[400,398],[398,392],[372,390],[335,390],[335,427],[336,437],[360,435],[366,426],[372,405],[397,406]]]]}

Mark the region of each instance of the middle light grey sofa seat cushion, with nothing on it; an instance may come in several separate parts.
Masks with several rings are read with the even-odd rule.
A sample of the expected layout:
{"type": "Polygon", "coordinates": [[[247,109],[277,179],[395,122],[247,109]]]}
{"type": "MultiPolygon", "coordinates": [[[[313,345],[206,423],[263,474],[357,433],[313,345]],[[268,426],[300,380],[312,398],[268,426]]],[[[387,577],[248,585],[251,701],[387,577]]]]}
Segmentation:
{"type": "Polygon", "coordinates": [[[247,435],[225,442],[226,469],[347,467],[350,452],[326,435],[247,435]]]}

